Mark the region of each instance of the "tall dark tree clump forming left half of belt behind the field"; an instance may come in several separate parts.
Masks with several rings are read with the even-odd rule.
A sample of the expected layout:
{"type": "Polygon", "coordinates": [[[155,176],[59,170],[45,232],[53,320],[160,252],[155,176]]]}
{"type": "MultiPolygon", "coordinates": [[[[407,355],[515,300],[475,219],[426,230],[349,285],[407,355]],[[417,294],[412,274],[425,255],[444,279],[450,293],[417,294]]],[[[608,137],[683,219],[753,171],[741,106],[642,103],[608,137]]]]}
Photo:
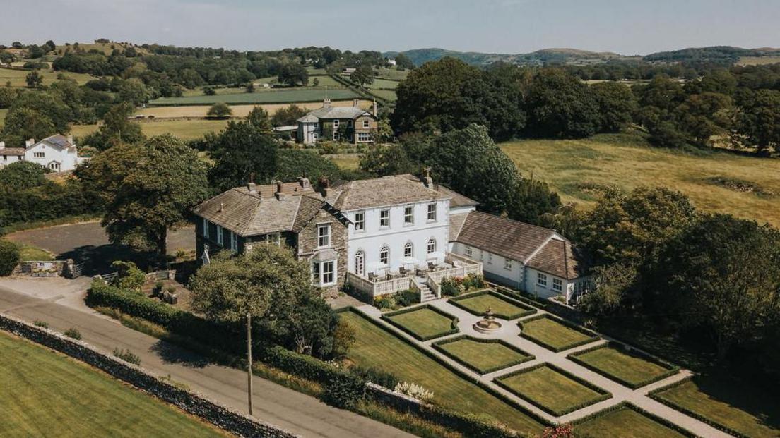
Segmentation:
{"type": "Polygon", "coordinates": [[[397,89],[397,133],[488,128],[494,140],[519,136],[574,138],[630,122],[636,99],[626,87],[589,87],[563,69],[478,69],[455,58],[428,62],[397,89]]]}

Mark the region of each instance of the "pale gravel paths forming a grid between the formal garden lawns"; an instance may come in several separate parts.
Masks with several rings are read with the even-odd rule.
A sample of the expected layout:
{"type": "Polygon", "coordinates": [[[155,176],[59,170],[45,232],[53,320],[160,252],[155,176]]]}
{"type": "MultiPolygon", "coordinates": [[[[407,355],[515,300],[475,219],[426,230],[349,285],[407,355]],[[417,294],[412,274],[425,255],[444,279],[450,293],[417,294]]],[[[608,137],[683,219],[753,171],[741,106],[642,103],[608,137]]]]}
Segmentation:
{"type": "Polygon", "coordinates": [[[651,390],[654,390],[655,388],[666,386],[669,383],[673,383],[678,380],[682,380],[687,376],[690,376],[691,372],[689,370],[683,369],[680,371],[680,373],[677,373],[674,376],[669,376],[666,379],[659,380],[658,382],[652,383],[644,387],[640,387],[639,389],[636,390],[632,390],[629,387],[624,387],[623,385],[615,382],[614,380],[610,380],[605,376],[601,376],[601,374],[594,373],[590,369],[587,369],[575,362],[570,361],[569,359],[566,359],[566,355],[569,355],[574,351],[583,350],[585,348],[590,348],[593,347],[594,345],[607,342],[609,340],[609,337],[606,337],[605,335],[601,335],[601,337],[604,337],[604,339],[600,341],[594,341],[591,342],[590,344],[585,344],[580,347],[570,348],[569,350],[560,351],[556,353],[555,351],[550,351],[539,344],[535,344],[534,342],[519,336],[520,329],[517,326],[517,321],[522,321],[523,319],[531,318],[536,315],[546,313],[542,309],[537,309],[538,312],[536,315],[531,315],[531,316],[527,316],[526,318],[511,320],[511,322],[507,320],[498,319],[498,321],[501,322],[504,327],[500,332],[495,334],[482,334],[474,330],[472,327],[473,323],[476,323],[477,320],[482,319],[481,316],[474,316],[471,313],[468,313],[465,310],[460,309],[459,307],[452,306],[452,304],[449,304],[449,302],[447,302],[445,298],[426,302],[426,304],[444,310],[446,313],[449,313],[453,316],[457,316],[459,319],[458,322],[458,328],[460,330],[459,333],[451,334],[448,336],[437,337],[435,339],[432,339],[431,341],[418,341],[417,339],[410,336],[409,334],[404,333],[402,330],[399,330],[393,327],[391,324],[388,324],[384,320],[382,320],[381,311],[376,307],[364,305],[358,307],[357,309],[360,310],[360,312],[363,312],[366,315],[371,316],[372,319],[377,320],[384,327],[388,327],[390,330],[393,330],[396,333],[401,334],[403,337],[412,341],[414,344],[417,344],[418,346],[427,349],[427,351],[433,352],[434,355],[437,355],[445,362],[448,362],[450,365],[456,367],[457,369],[460,369],[461,371],[469,374],[470,376],[476,377],[478,380],[488,384],[488,386],[497,390],[499,393],[504,394],[509,399],[516,401],[524,408],[527,408],[530,412],[534,412],[534,414],[537,414],[542,418],[547,419],[548,421],[559,422],[559,423],[572,422],[586,415],[590,415],[594,412],[598,412],[601,411],[602,409],[608,408],[609,406],[618,404],[621,401],[629,401],[632,404],[635,404],[636,406],[643,408],[647,412],[651,412],[654,415],[658,415],[663,419],[667,419],[668,421],[673,422],[678,426],[690,430],[690,432],[693,432],[698,436],[707,436],[708,438],[730,436],[729,434],[723,433],[722,431],[715,429],[714,427],[709,426],[704,422],[694,419],[689,415],[685,415],[682,412],[675,411],[675,409],[669,408],[665,404],[658,403],[658,401],[654,401],[650,397],[647,397],[647,393],[651,390]],[[536,359],[528,362],[523,362],[516,366],[511,366],[509,368],[501,369],[494,373],[488,373],[483,376],[478,373],[474,373],[471,369],[462,366],[459,362],[450,359],[446,355],[441,354],[438,350],[431,347],[431,344],[433,344],[434,342],[438,342],[443,339],[448,339],[449,337],[458,337],[463,334],[467,334],[471,337],[480,337],[484,339],[496,339],[496,338],[501,339],[502,341],[512,344],[517,348],[520,348],[521,350],[536,356],[536,359]],[[537,365],[541,362],[551,363],[555,366],[558,366],[558,368],[565,369],[569,373],[572,373],[575,376],[579,376],[580,378],[583,378],[584,380],[593,383],[597,387],[601,387],[605,390],[608,390],[609,392],[612,393],[612,397],[608,398],[605,401],[601,401],[596,404],[591,404],[590,406],[587,406],[585,408],[578,409],[575,412],[570,412],[569,414],[562,415],[561,417],[555,417],[554,415],[550,415],[547,412],[542,411],[540,408],[537,408],[536,406],[534,406],[534,404],[530,404],[529,402],[523,400],[522,398],[517,397],[515,394],[512,394],[508,390],[499,387],[497,384],[493,382],[495,376],[501,376],[506,373],[511,373],[512,371],[516,371],[518,369],[525,369],[527,367],[537,365]]]}

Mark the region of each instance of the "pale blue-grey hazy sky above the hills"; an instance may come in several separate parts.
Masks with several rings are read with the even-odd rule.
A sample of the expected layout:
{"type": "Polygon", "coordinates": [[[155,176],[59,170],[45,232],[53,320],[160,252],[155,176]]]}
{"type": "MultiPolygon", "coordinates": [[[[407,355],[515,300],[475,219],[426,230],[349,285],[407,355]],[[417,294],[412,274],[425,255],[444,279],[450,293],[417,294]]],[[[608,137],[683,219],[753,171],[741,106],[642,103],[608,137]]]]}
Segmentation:
{"type": "Polygon", "coordinates": [[[780,47],[780,0],[2,0],[0,44],[97,38],[236,50],[647,55],[780,47]]]}

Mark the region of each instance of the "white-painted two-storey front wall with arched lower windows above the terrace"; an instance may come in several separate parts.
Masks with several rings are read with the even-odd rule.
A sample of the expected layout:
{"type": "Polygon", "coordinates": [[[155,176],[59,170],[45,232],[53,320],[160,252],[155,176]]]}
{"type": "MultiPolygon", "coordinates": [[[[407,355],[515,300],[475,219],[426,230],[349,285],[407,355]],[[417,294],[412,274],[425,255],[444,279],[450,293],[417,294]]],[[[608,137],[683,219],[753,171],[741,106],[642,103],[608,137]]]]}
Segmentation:
{"type": "MultiPolygon", "coordinates": [[[[449,200],[408,203],[384,207],[372,207],[365,210],[349,210],[344,212],[352,221],[349,224],[348,270],[353,274],[365,276],[371,272],[397,271],[401,267],[412,268],[414,265],[427,267],[429,242],[433,245],[432,253],[445,253],[449,243],[449,200]],[[428,206],[435,206],[436,219],[427,218],[428,206]],[[406,223],[406,209],[412,209],[412,223],[406,223]],[[389,211],[389,226],[381,225],[381,212],[389,211]],[[360,217],[363,214],[363,230],[360,227],[360,217]],[[411,245],[411,257],[417,263],[404,263],[406,245],[411,245]],[[388,266],[381,265],[381,250],[388,250],[388,266]],[[356,259],[359,252],[363,254],[363,268],[356,259]]],[[[439,258],[441,261],[441,258],[439,258]]]]}

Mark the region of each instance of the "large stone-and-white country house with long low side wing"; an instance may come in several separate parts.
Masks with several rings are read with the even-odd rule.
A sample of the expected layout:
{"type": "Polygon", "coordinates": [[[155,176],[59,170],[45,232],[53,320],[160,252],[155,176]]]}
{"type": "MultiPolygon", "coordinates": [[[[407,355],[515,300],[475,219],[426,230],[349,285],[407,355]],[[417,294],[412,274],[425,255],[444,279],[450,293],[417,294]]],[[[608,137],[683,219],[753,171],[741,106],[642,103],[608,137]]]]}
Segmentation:
{"type": "Polygon", "coordinates": [[[427,174],[341,182],[307,178],[230,189],[193,209],[197,254],[285,245],[312,284],[377,297],[406,289],[441,296],[447,277],[484,274],[541,297],[576,299],[589,278],[573,245],[547,228],[477,211],[427,174]]]}

